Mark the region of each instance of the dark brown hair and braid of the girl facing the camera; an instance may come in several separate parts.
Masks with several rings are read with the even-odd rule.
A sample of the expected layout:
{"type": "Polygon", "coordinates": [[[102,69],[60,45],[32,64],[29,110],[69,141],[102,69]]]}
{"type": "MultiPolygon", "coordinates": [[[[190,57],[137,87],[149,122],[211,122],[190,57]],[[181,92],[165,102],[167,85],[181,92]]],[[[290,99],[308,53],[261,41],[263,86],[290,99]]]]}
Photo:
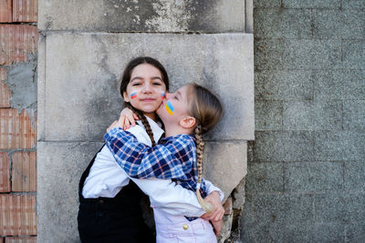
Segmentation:
{"type": "MultiPolygon", "coordinates": [[[[167,75],[166,69],[162,66],[162,64],[158,60],[156,60],[150,56],[139,56],[139,57],[136,57],[136,58],[130,60],[130,62],[124,69],[123,75],[121,76],[120,95],[122,97],[123,97],[123,93],[127,92],[127,86],[130,83],[131,72],[133,71],[134,67],[139,66],[141,64],[149,64],[149,65],[154,66],[157,69],[159,69],[161,76],[162,76],[162,81],[166,86],[166,90],[169,90],[169,82],[170,82],[169,76],[167,75]]],[[[124,102],[124,106],[130,108],[140,118],[143,126],[146,129],[148,136],[151,138],[152,146],[155,146],[156,143],[153,139],[152,129],[150,127],[150,124],[149,124],[146,116],[143,115],[141,110],[138,110],[138,109],[134,108],[133,106],[131,106],[129,102],[124,102]]]]}

